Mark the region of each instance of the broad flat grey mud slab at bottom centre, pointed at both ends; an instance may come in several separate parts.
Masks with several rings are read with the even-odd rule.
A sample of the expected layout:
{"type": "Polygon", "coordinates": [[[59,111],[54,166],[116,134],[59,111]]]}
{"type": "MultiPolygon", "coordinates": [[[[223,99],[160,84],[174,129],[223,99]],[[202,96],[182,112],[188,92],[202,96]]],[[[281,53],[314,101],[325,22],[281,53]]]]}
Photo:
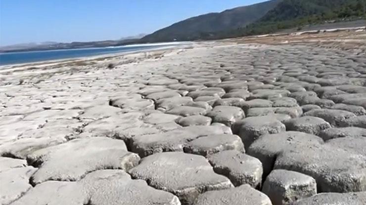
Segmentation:
{"type": "Polygon", "coordinates": [[[232,187],[230,180],[216,174],[204,157],[181,152],[145,157],[129,173],[156,189],[173,193],[183,205],[191,205],[205,191],[232,187]]]}

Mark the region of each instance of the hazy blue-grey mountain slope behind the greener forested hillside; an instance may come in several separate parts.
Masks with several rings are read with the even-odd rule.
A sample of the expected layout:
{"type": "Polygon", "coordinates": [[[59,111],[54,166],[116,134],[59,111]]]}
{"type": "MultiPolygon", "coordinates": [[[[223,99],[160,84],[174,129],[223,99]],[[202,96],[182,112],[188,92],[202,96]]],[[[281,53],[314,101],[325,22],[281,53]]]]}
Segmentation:
{"type": "Polygon", "coordinates": [[[202,33],[216,33],[229,29],[245,27],[263,17],[280,0],[270,0],[249,6],[241,6],[220,13],[208,13],[192,17],[169,27],[146,35],[141,40],[172,41],[197,39],[202,33]]]}

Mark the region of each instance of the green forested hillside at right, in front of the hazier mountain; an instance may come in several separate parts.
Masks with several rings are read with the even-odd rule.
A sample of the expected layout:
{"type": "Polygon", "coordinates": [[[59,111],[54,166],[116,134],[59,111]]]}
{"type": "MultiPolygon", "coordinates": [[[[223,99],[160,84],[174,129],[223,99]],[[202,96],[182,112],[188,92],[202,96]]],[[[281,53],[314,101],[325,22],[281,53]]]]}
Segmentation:
{"type": "MultiPolygon", "coordinates": [[[[366,0],[282,0],[246,27],[212,34],[211,39],[268,34],[327,21],[366,18],[366,0]]],[[[205,37],[207,35],[202,35],[205,37]]]]}

